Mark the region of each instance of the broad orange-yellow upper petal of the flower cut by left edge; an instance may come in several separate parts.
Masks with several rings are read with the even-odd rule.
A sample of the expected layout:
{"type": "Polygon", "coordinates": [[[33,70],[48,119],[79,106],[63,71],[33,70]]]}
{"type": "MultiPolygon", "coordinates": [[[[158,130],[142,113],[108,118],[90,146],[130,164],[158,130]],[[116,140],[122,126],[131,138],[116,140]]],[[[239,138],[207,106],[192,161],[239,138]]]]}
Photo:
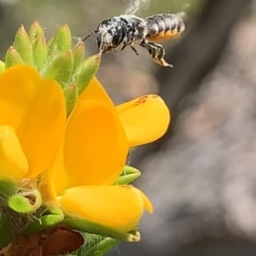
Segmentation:
{"type": "Polygon", "coordinates": [[[43,172],[60,147],[65,99],[59,84],[32,67],[15,66],[0,76],[0,125],[12,125],[29,164],[27,177],[43,172]]]}

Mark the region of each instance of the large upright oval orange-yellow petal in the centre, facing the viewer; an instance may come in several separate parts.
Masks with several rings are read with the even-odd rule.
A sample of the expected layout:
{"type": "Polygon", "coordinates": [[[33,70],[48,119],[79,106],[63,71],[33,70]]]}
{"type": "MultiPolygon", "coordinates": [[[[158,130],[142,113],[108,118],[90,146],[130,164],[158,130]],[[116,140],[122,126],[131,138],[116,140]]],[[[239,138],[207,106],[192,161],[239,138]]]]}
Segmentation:
{"type": "Polygon", "coordinates": [[[64,160],[69,187],[112,184],[125,166],[128,142],[113,108],[79,102],[67,123],[64,160]]]}

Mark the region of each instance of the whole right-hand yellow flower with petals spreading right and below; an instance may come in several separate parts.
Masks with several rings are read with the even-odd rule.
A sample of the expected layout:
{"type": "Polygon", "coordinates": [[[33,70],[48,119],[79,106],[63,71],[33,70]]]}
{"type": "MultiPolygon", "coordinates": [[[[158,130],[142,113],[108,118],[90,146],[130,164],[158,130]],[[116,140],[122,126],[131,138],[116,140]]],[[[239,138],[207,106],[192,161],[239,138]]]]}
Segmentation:
{"type": "Polygon", "coordinates": [[[143,96],[114,108],[93,79],[67,121],[63,148],[48,175],[50,197],[57,196],[70,216],[114,230],[135,229],[143,209],[153,211],[150,201],[130,185],[112,184],[125,166],[129,148],[162,136],[169,121],[159,96],[143,96]]]}

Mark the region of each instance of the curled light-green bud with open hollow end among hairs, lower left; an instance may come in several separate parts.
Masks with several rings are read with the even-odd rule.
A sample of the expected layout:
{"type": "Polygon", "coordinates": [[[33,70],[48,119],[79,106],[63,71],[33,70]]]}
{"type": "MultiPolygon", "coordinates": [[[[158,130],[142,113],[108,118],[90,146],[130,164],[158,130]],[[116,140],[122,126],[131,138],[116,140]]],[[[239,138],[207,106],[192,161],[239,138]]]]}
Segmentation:
{"type": "Polygon", "coordinates": [[[15,212],[23,214],[32,213],[42,206],[42,197],[36,189],[10,196],[7,204],[15,212]]]}

